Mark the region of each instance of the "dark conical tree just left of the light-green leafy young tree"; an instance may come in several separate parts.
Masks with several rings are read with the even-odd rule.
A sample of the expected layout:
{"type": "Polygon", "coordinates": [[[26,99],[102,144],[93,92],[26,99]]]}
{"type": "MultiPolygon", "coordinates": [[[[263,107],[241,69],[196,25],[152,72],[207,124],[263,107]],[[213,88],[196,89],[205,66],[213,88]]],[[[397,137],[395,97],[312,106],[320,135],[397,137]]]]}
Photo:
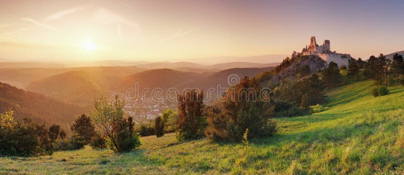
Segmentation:
{"type": "Polygon", "coordinates": [[[70,129],[73,133],[82,136],[86,143],[89,143],[91,138],[95,136],[95,129],[91,122],[91,118],[87,117],[85,114],[82,114],[77,118],[70,129]]]}

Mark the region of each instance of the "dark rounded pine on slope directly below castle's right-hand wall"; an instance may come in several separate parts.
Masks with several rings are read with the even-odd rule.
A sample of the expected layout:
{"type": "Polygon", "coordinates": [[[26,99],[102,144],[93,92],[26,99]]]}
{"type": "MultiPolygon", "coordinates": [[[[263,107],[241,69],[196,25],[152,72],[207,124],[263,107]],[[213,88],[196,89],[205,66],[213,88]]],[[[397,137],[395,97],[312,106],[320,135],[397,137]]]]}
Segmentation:
{"type": "Polygon", "coordinates": [[[334,62],[330,62],[328,67],[321,71],[321,79],[327,89],[340,85],[342,82],[342,76],[339,73],[338,65],[334,62]]]}

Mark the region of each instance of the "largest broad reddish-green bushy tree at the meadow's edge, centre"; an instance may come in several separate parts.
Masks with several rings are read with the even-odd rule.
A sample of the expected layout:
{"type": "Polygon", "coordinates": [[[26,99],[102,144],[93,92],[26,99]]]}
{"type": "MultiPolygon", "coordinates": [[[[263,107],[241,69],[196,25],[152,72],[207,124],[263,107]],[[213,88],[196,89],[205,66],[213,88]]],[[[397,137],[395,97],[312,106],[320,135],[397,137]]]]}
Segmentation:
{"type": "Polygon", "coordinates": [[[276,131],[270,120],[273,106],[268,97],[260,96],[261,84],[255,78],[244,77],[223,96],[221,109],[207,108],[206,136],[213,140],[240,142],[245,130],[248,138],[270,136],[276,131]]]}

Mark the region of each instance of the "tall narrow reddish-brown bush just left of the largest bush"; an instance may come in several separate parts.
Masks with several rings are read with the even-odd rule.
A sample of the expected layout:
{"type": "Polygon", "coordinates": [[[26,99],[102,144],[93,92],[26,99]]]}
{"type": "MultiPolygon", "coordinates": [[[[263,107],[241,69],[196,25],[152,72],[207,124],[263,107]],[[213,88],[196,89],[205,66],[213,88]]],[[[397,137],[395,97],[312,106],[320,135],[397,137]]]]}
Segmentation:
{"type": "Polygon", "coordinates": [[[202,115],[205,94],[195,89],[178,95],[177,140],[196,139],[203,136],[206,119],[202,115]]]}

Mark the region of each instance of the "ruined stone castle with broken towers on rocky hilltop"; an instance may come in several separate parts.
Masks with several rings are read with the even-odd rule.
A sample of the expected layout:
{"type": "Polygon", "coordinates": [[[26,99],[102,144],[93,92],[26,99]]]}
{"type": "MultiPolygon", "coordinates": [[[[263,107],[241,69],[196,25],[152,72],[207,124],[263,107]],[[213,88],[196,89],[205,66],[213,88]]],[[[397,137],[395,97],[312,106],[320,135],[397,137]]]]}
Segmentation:
{"type": "Polygon", "coordinates": [[[323,45],[319,46],[316,42],[316,37],[310,38],[309,48],[303,48],[301,53],[293,51],[292,57],[305,55],[316,55],[329,64],[330,62],[337,63],[338,66],[348,66],[348,61],[351,58],[349,54],[338,54],[335,51],[331,52],[330,40],[324,40],[323,45]]]}

